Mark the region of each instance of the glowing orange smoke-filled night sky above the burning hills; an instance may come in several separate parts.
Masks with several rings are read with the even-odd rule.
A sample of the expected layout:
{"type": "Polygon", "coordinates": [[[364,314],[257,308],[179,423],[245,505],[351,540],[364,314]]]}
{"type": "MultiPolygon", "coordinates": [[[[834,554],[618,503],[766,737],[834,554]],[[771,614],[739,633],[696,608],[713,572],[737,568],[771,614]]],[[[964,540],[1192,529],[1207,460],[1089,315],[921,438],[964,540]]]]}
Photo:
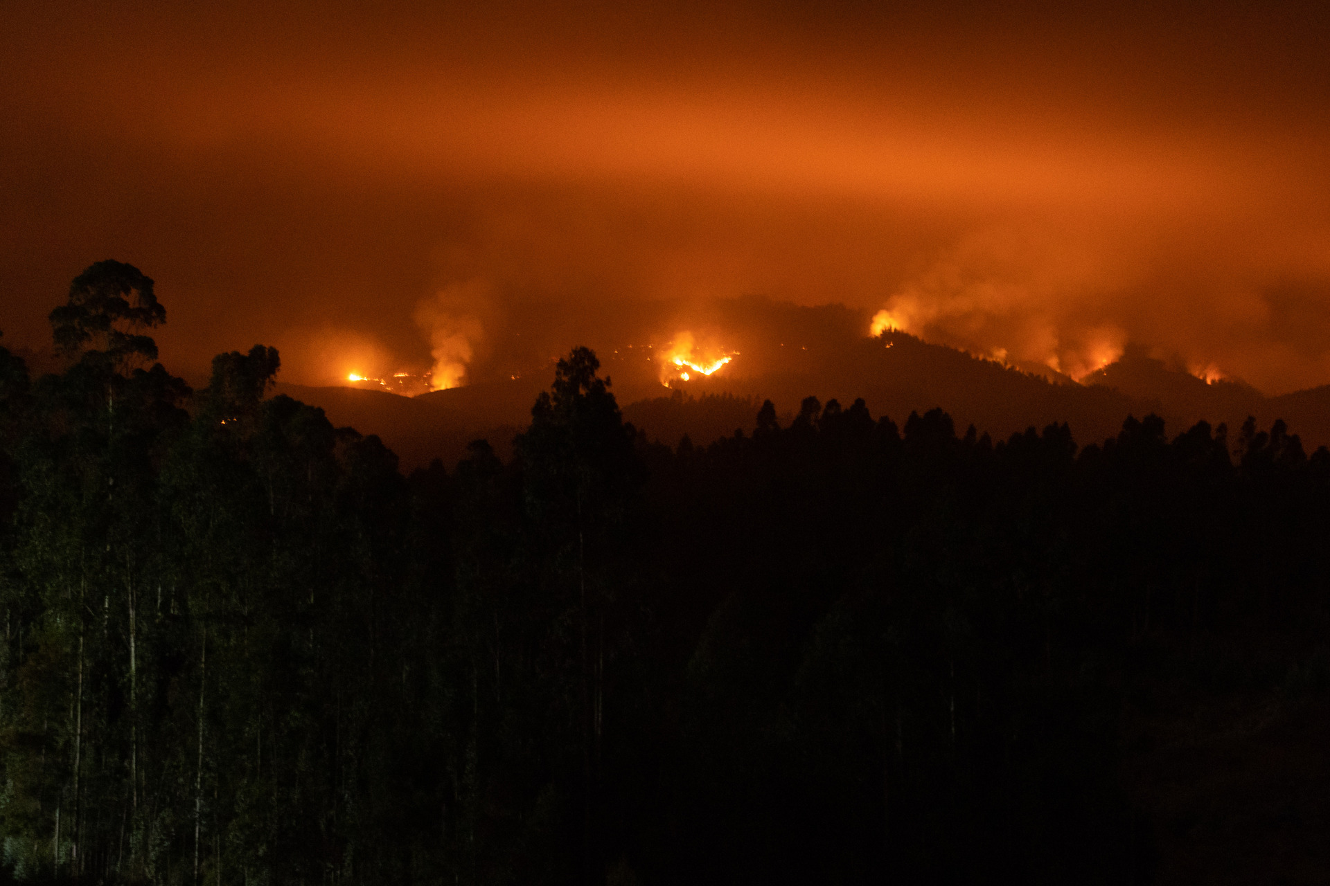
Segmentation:
{"type": "Polygon", "coordinates": [[[116,258],[196,375],[479,379],[761,294],[1330,383],[1323,4],[915,5],[8,4],[4,343],[116,258]]]}

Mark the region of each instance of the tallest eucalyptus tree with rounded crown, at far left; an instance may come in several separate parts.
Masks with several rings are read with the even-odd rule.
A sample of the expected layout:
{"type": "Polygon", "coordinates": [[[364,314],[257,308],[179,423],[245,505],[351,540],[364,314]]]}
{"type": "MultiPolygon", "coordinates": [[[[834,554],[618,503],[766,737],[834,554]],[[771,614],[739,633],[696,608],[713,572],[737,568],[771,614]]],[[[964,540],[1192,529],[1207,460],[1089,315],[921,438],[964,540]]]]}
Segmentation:
{"type": "Polygon", "coordinates": [[[190,393],[161,364],[145,368],[157,356],[145,331],[164,319],[153,282],[133,266],[98,262],[85,270],[51,315],[68,368],[37,383],[16,445],[21,582],[5,588],[5,604],[11,622],[28,626],[13,650],[16,688],[28,701],[5,728],[37,741],[39,758],[52,760],[41,769],[44,782],[11,796],[29,808],[35,801],[33,830],[43,838],[51,832],[49,847],[35,842],[23,865],[77,875],[88,869],[89,849],[100,853],[98,863],[113,854],[118,863],[108,846],[112,830],[134,859],[144,789],[141,600],[160,566],[156,464],[188,422],[181,405],[190,393]],[[40,689],[29,669],[48,675],[40,689]],[[69,695],[59,716],[48,697],[53,687],[69,695]],[[94,797],[104,789],[121,808],[118,829],[108,797],[94,797]]]}

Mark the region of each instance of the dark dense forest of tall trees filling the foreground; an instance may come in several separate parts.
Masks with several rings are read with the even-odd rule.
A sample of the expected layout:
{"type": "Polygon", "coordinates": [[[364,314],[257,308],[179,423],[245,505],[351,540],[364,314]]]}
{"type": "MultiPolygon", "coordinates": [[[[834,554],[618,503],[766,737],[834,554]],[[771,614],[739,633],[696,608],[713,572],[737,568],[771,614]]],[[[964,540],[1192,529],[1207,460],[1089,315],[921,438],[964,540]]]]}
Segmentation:
{"type": "Polygon", "coordinates": [[[0,878],[1133,883],[1177,685],[1323,697],[1330,453],[805,400],[705,448],[585,349],[513,457],[160,363],[101,262],[0,349],[0,878]]]}

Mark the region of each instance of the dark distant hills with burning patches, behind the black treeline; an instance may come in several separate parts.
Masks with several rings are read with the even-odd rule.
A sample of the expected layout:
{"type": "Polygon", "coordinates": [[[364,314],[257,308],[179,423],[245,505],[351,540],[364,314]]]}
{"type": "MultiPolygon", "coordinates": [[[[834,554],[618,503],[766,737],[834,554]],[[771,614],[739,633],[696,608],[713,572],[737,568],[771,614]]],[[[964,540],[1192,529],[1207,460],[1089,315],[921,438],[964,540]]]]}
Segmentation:
{"type": "MultiPolygon", "coordinates": [[[[684,434],[693,445],[705,446],[735,429],[749,433],[763,400],[771,400],[787,422],[807,396],[823,402],[835,399],[843,406],[863,399],[874,416],[887,414],[898,424],[911,412],[940,406],[958,428],[972,424],[995,438],[1067,422],[1077,444],[1085,445],[1115,436],[1129,414],[1153,412],[1165,420],[1169,436],[1202,418],[1236,430],[1248,416],[1256,416],[1262,426],[1275,418],[1287,421],[1309,452],[1330,444],[1330,385],[1266,397],[1237,381],[1206,384],[1134,351],[1076,384],[1065,376],[1025,372],[904,332],[868,339],[854,336],[847,321],[830,325],[831,332],[810,332],[801,344],[791,331],[797,324],[789,320],[779,332],[789,332],[789,341],[746,343],[745,356],[759,360],[737,360],[733,372],[726,368],[710,379],[676,383],[673,391],[656,380],[641,352],[612,351],[602,361],[614,379],[612,389],[625,420],[670,446],[684,434]],[[758,355],[763,348],[766,352],[758,355]],[[746,365],[765,371],[745,373],[746,365]]],[[[411,469],[432,458],[451,465],[476,438],[489,440],[507,457],[512,437],[529,420],[536,395],[549,383],[545,375],[531,372],[511,381],[410,399],[351,388],[277,389],[321,406],[336,425],[379,434],[403,468],[411,469]]]]}

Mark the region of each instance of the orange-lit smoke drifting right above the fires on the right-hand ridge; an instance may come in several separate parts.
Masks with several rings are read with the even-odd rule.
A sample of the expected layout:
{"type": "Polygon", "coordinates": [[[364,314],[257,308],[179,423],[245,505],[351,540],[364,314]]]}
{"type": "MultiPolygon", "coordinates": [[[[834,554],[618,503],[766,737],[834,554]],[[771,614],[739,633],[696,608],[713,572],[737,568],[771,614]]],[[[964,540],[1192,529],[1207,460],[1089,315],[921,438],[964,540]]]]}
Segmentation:
{"type": "Polygon", "coordinates": [[[1258,227],[1241,219],[1205,240],[1166,218],[1134,230],[1065,219],[987,227],[908,275],[872,329],[1073,379],[1134,343],[1198,377],[1242,377],[1270,392],[1315,384],[1330,377],[1330,324],[1310,306],[1326,304],[1330,268],[1311,250],[1273,242],[1286,223],[1258,227]],[[1283,319],[1294,313],[1301,329],[1283,319]]]}

